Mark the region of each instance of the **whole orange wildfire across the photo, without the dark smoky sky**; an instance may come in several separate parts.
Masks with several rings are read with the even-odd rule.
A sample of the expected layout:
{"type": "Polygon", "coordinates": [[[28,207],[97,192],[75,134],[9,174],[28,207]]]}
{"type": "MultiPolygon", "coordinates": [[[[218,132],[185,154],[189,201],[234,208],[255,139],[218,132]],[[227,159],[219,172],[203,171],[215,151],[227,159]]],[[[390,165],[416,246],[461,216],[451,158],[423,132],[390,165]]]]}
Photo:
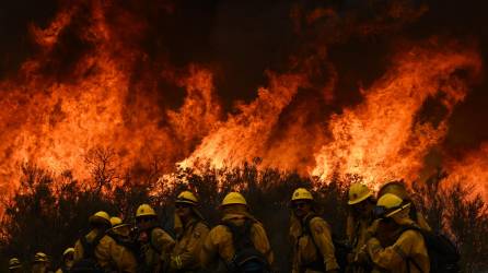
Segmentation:
{"type": "MultiPolygon", "coordinates": [[[[205,162],[216,168],[235,167],[259,157],[260,167],[295,170],[324,182],[336,176],[369,183],[414,180],[481,71],[480,56],[472,46],[439,38],[413,43],[398,49],[387,71],[361,90],[359,104],[335,110],[339,75],[327,59],[329,45],[321,44],[335,41],[318,39],[317,56],[302,60],[293,55],[286,72],[266,73],[268,83],[254,99],[236,102],[225,112],[212,69],[198,63],[175,67],[165,57],[149,61],[151,56],[139,43],[148,21],[109,1],[88,2],[65,7],[45,28],[32,26],[39,51],[16,76],[0,82],[4,192],[15,189],[23,162],[57,173],[71,169],[75,177],[88,178],[86,156],[96,147],[112,149],[121,169],[159,161],[171,174],[175,166],[198,167],[205,162]],[[73,37],[82,45],[75,56],[67,43],[73,37]],[[175,92],[184,93],[177,107],[166,103],[175,92]],[[429,102],[442,109],[431,119],[422,114],[429,102]]],[[[405,13],[394,11],[388,10],[394,16],[405,13]]],[[[402,22],[425,11],[408,11],[411,19],[402,22]]],[[[327,16],[333,26],[341,25],[340,13],[332,8],[305,21],[312,24],[327,16]]],[[[376,31],[390,29],[370,28],[376,31]]],[[[478,179],[485,190],[487,152],[483,145],[460,162],[451,161],[448,170],[453,179],[478,179]],[[476,171],[468,171],[473,168],[476,171]]]]}

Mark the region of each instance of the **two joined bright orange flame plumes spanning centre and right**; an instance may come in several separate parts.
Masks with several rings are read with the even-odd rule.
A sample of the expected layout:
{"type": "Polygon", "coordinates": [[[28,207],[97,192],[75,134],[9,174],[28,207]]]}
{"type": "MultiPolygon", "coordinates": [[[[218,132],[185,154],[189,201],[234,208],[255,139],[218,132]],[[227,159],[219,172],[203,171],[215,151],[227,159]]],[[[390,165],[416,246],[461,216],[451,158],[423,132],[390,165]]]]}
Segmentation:
{"type": "Polygon", "coordinates": [[[306,81],[297,75],[271,76],[269,88],[262,88],[256,100],[206,136],[182,165],[206,159],[217,168],[232,167],[262,157],[266,167],[300,167],[299,171],[309,171],[322,180],[335,175],[356,176],[370,183],[395,178],[413,180],[421,170],[426,154],[445,135],[453,107],[468,91],[456,71],[467,69],[477,74],[481,64],[472,50],[441,50],[435,45],[397,58],[390,72],[362,91],[362,104],[330,117],[330,138],[303,130],[300,112],[293,120],[298,126],[290,127],[289,134],[272,138],[283,108],[306,81]],[[433,124],[417,119],[425,102],[435,97],[448,109],[442,120],[433,124]],[[322,147],[314,150],[316,143],[322,143],[322,147]],[[300,165],[294,159],[300,150],[314,151],[316,163],[300,165]]]}

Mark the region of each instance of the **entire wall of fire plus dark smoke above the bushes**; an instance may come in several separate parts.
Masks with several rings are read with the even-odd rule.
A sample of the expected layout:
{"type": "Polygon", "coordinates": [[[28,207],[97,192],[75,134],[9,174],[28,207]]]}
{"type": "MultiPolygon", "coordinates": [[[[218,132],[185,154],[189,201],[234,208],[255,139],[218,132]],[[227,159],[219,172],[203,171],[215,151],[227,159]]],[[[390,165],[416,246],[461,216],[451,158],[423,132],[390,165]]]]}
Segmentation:
{"type": "Polygon", "coordinates": [[[3,192],[15,189],[23,162],[86,178],[98,147],[112,149],[120,169],[259,157],[262,167],[369,183],[418,179],[438,154],[434,165],[453,179],[468,174],[485,192],[488,134],[454,129],[483,120],[457,109],[486,105],[486,36],[464,32],[476,20],[444,22],[470,9],[406,0],[53,7],[19,28],[34,45],[24,57],[3,54],[19,59],[1,67],[3,192]]]}

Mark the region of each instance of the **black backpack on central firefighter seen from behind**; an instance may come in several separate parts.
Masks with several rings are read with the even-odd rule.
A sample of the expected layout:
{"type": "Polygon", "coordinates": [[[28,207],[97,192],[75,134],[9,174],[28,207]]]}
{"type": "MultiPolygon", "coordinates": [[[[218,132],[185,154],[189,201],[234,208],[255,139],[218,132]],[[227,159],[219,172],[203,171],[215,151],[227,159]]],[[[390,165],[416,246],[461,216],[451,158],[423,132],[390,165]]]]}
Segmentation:
{"type": "Polygon", "coordinates": [[[231,222],[223,222],[232,234],[234,246],[234,257],[230,262],[225,262],[230,273],[268,273],[270,266],[266,257],[259,252],[251,239],[251,228],[254,222],[245,219],[244,225],[237,226],[231,222]]]}

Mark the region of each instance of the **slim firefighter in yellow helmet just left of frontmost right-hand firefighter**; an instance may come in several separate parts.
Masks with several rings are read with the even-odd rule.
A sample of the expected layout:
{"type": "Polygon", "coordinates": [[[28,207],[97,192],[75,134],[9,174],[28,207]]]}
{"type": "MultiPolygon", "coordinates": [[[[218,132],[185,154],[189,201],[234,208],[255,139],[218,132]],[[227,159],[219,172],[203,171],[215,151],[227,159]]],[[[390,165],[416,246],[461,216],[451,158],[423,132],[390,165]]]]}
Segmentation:
{"type": "Polygon", "coordinates": [[[371,271],[371,264],[365,251],[365,244],[374,234],[373,210],[376,202],[373,191],[365,185],[352,183],[349,188],[349,215],[347,217],[346,235],[352,252],[348,257],[348,272],[365,273],[371,271]]]}

